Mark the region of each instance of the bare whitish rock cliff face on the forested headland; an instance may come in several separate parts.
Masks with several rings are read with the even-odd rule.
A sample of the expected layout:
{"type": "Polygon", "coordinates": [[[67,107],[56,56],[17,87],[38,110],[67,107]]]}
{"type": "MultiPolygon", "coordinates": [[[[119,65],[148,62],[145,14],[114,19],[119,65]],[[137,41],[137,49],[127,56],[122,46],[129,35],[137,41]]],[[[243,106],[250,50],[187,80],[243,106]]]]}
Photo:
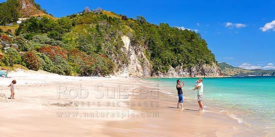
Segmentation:
{"type": "Polygon", "coordinates": [[[213,65],[203,64],[201,66],[194,65],[189,68],[182,68],[182,65],[176,68],[170,67],[167,73],[160,71],[153,73],[150,61],[144,55],[144,48],[139,44],[130,41],[127,36],[121,36],[126,49],[127,56],[129,57],[128,64],[124,64],[115,76],[119,77],[133,77],[133,78],[177,78],[177,77],[223,77],[219,66],[213,62],[213,65]]]}

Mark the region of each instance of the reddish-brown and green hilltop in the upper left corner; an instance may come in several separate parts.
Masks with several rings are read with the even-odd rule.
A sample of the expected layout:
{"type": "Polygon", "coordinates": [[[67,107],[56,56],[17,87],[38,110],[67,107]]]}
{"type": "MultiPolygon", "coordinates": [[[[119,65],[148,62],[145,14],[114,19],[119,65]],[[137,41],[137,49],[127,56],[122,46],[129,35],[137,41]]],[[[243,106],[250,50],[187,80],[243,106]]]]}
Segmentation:
{"type": "Polygon", "coordinates": [[[0,25],[15,23],[19,17],[47,14],[34,0],[7,0],[0,3],[0,25]]]}

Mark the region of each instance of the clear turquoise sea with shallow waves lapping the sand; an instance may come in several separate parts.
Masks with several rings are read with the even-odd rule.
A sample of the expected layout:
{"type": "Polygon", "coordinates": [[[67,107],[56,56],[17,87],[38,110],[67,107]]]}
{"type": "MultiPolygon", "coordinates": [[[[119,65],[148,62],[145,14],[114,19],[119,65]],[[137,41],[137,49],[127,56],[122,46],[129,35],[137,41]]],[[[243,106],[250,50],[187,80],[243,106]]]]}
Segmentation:
{"type": "MultiPolygon", "coordinates": [[[[195,100],[196,92],[192,89],[198,78],[147,80],[161,85],[164,90],[160,92],[177,98],[177,79],[184,80],[183,99],[195,100]]],[[[202,79],[203,105],[206,112],[227,115],[259,135],[275,137],[275,76],[202,79]]]]}

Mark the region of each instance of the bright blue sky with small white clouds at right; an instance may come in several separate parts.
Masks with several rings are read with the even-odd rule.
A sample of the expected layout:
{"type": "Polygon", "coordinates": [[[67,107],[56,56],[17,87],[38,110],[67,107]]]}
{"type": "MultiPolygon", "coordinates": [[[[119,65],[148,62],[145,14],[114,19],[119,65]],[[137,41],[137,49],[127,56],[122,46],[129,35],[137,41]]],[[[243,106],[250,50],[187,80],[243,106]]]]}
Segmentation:
{"type": "MultiPolygon", "coordinates": [[[[6,0],[0,0],[3,2],[6,0]]],[[[34,0],[55,17],[100,7],[200,33],[217,62],[275,69],[274,0],[34,0]]]]}

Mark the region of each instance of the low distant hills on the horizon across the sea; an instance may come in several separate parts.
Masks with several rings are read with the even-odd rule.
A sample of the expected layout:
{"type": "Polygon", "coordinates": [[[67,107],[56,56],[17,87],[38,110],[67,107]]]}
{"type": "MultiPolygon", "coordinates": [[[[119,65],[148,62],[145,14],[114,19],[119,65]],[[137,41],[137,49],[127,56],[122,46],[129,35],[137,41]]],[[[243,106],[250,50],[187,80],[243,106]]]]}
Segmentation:
{"type": "Polygon", "coordinates": [[[233,67],[225,62],[218,63],[225,76],[243,77],[243,76],[274,76],[275,70],[252,69],[233,67]]]}

